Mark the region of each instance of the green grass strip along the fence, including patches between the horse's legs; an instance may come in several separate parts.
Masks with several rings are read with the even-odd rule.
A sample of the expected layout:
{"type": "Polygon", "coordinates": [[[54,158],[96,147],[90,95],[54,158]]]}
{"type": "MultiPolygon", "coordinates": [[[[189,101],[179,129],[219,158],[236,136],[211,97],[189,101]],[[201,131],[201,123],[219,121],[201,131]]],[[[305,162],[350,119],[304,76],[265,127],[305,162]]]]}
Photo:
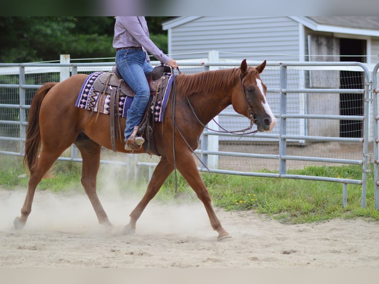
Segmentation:
{"type": "MultiPolygon", "coordinates": [[[[28,178],[24,174],[19,157],[0,156],[0,187],[5,189],[27,188],[28,178]]],[[[38,189],[62,191],[83,190],[80,184],[81,164],[56,162],[55,178],[43,179],[38,189]]],[[[142,197],[147,182],[145,179],[126,181],[125,169],[101,165],[98,174],[98,190],[115,187],[125,194],[142,197]],[[105,179],[105,177],[107,177],[105,179]]],[[[361,179],[360,166],[306,167],[288,171],[290,174],[348,179],[361,179]]],[[[257,213],[283,223],[300,224],[320,222],[333,218],[365,218],[379,221],[379,211],[374,208],[373,174],[368,176],[366,208],[361,208],[361,186],[347,186],[348,206],[342,206],[342,184],[291,179],[242,177],[235,175],[202,173],[213,204],[226,210],[254,210],[257,213]]],[[[155,197],[160,202],[199,202],[196,194],[178,173],[175,192],[175,176],[172,174],[155,197]]]]}

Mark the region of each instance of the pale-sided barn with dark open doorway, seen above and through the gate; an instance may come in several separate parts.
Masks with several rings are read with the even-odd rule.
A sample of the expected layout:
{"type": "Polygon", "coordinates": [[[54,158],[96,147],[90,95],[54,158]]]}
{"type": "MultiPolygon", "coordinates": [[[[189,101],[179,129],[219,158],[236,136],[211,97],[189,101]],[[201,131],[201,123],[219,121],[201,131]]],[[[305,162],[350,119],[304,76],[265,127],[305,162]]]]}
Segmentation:
{"type": "MultiPolygon", "coordinates": [[[[358,61],[370,65],[379,62],[379,17],[374,16],[188,16],[163,23],[163,29],[168,31],[169,54],[177,60],[201,58],[208,51],[217,50],[220,59],[358,61]]],[[[363,75],[357,73],[362,72],[308,72],[297,80],[301,81],[300,86],[292,87],[363,89],[363,75]]],[[[277,84],[274,79],[264,81],[270,86],[277,84]]],[[[270,104],[274,113],[278,113],[279,98],[275,96],[271,95],[270,104]]],[[[299,95],[288,107],[291,112],[309,114],[363,115],[360,94],[299,95]],[[328,108],[316,107],[316,100],[327,101],[328,108]]],[[[303,123],[294,120],[290,125],[291,134],[362,136],[362,122],[354,120],[335,120],[327,125],[312,119],[303,123]]]]}

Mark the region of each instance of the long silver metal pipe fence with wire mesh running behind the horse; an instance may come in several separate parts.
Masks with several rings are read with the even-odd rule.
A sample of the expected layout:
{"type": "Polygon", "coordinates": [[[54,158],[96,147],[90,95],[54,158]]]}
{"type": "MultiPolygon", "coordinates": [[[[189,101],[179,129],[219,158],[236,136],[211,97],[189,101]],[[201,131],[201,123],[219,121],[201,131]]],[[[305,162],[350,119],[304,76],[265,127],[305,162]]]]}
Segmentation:
{"type": "MultiPolygon", "coordinates": [[[[203,63],[192,60],[180,62],[180,66],[182,71],[190,74],[209,69],[237,67],[239,63],[237,61],[203,63]]],[[[23,155],[28,108],[34,92],[42,84],[59,81],[60,70],[66,71],[67,68],[70,68],[71,75],[89,74],[94,71],[110,70],[112,65],[113,62],[0,64],[0,67],[3,67],[0,68],[0,154],[23,155]],[[9,72],[6,73],[4,69],[9,72]]],[[[204,130],[201,147],[195,151],[195,155],[206,164],[207,168],[198,162],[199,170],[244,176],[338,182],[342,184],[344,205],[346,205],[347,184],[358,184],[362,185],[361,205],[365,207],[370,159],[370,120],[365,119],[369,117],[371,107],[369,74],[365,65],[358,62],[268,62],[262,73],[262,80],[269,88],[267,94],[269,104],[278,119],[276,128],[270,134],[258,133],[244,137],[204,130]],[[344,72],[347,72],[347,75],[344,72]],[[331,74],[335,77],[331,77],[331,74]],[[323,81],[327,82],[325,86],[323,81]],[[341,103],[344,99],[341,94],[345,94],[344,97],[357,108],[357,112],[343,112],[344,108],[351,110],[353,107],[341,103]],[[319,108],[316,108],[316,105],[319,108]],[[342,124],[348,124],[353,130],[342,131],[342,124]],[[208,141],[211,139],[216,141],[217,147],[209,148],[208,141]],[[209,157],[214,158],[211,164],[209,157]],[[303,168],[306,165],[340,164],[361,165],[362,179],[313,177],[288,173],[290,169],[303,168]]],[[[378,117],[376,110],[374,113],[378,117]]],[[[228,130],[241,129],[243,128],[241,125],[248,124],[247,119],[235,113],[232,107],[224,110],[218,116],[218,120],[228,130]]],[[[377,119],[375,123],[377,125],[377,119]]],[[[374,127],[374,130],[377,131],[373,135],[377,142],[378,126],[374,127]]],[[[375,161],[378,161],[377,146],[374,147],[374,151],[375,161]]],[[[80,154],[73,148],[59,159],[80,162],[78,155],[80,154]]],[[[138,167],[148,166],[151,176],[152,169],[156,165],[154,160],[146,159],[143,155],[134,156],[135,175],[138,173],[138,167]]],[[[117,155],[114,157],[109,160],[103,159],[101,162],[127,165],[130,176],[132,167],[130,155],[128,154],[127,158],[117,155]]],[[[377,167],[377,162],[375,166],[377,167]]],[[[377,204],[378,170],[375,172],[377,204]]]]}

